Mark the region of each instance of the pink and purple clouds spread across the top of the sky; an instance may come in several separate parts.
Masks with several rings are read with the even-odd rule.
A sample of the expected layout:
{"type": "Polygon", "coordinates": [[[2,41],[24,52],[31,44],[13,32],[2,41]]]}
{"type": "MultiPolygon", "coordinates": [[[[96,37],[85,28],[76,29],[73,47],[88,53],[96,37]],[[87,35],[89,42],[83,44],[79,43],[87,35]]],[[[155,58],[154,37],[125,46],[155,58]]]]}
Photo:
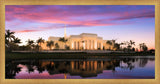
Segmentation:
{"type": "Polygon", "coordinates": [[[154,17],[154,6],[6,6],[6,21],[12,24],[15,20],[19,20],[21,25],[28,23],[27,26],[28,28],[30,27],[18,32],[63,28],[64,24],[67,24],[69,27],[122,25],[128,24],[122,20],[154,17]],[[51,25],[47,27],[40,25],[44,29],[37,27],[37,30],[34,30],[32,23],[51,25]]]}

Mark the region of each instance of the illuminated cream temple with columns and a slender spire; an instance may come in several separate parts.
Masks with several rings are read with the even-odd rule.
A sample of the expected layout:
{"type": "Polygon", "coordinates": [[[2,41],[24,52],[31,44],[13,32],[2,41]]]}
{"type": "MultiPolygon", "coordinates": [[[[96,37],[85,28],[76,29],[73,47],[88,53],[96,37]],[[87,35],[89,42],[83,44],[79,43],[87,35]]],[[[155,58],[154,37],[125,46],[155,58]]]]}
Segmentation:
{"type": "MultiPolygon", "coordinates": [[[[48,41],[53,41],[54,46],[51,49],[70,49],[70,50],[114,50],[114,42],[112,45],[106,44],[107,40],[103,40],[102,37],[93,33],[81,33],[80,35],[66,35],[66,27],[64,29],[63,37],[50,36],[48,41]],[[61,41],[60,39],[67,39],[67,41],[61,41]]],[[[41,44],[43,50],[48,50],[46,42],[41,44]]]]}

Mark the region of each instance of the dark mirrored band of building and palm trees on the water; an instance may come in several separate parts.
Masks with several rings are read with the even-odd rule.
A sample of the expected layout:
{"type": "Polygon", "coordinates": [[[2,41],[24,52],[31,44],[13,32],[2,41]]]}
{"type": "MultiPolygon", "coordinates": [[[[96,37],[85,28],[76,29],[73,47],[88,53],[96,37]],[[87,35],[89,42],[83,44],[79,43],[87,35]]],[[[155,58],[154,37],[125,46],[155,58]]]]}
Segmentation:
{"type": "Polygon", "coordinates": [[[139,67],[145,67],[148,60],[154,61],[154,59],[138,59],[138,58],[124,58],[124,59],[110,59],[110,60],[79,60],[79,61],[57,61],[57,60],[34,60],[34,61],[10,61],[6,63],[6,78],[14,78],[16,74],[22,71],[23,67],[18,65],[25,65],[28,69],[28,73],[37,70],[39,73],[47,71],[50,75],[64,74],[64,78],[67,78],[67,74],[71,76],[96,77],[98,74],[103,73],[103,70],[116,71],[116,67],[121,69],[132,70],[135,68],[135,63],[139,67]]]}

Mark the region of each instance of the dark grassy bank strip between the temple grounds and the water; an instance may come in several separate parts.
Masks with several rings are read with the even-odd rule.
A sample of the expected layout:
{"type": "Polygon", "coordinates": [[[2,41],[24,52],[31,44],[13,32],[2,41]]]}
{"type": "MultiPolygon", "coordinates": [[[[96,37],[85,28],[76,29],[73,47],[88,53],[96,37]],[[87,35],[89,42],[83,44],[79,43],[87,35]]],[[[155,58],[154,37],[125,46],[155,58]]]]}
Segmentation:
{"type": "Polygon", "coordinates": [[[152,53],[6,53],[6,60],[17,59],[86,59],[86,58],[110,58],[120,56],[151,56],[152,53]]]}

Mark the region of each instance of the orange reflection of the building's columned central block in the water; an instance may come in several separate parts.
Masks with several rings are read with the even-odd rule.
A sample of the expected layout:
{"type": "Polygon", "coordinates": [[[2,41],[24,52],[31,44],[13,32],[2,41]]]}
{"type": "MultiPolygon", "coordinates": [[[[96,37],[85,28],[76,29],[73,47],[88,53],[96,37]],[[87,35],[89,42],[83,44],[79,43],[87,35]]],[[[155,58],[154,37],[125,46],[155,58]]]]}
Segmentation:
{"type": "Polygon", "coordinates": [[[103,61],[71,61],[71,75],[97,76],[103,71],[103,61]]]}

